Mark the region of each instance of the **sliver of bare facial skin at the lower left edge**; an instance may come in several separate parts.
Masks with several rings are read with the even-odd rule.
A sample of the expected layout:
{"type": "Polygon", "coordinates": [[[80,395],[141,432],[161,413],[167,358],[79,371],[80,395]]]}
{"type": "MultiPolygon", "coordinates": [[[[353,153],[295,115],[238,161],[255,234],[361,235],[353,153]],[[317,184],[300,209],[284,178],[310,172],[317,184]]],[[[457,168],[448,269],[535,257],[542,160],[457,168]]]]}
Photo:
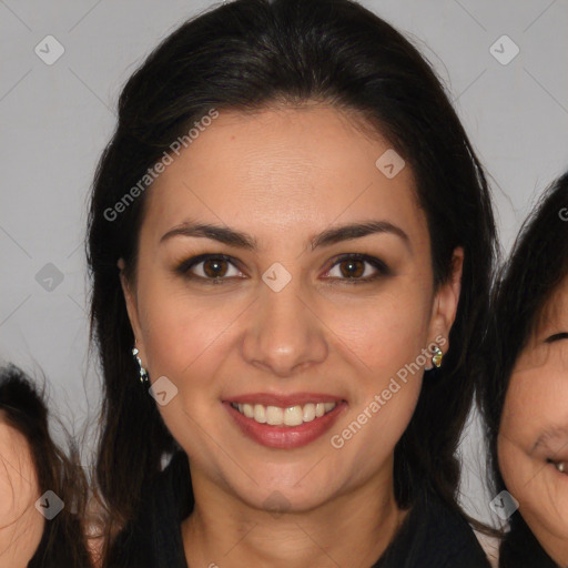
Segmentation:
{"type": "Polygon", "coordinates": [[[0,412],[0,568],[23,568],[36,554],[44,525],[39,497],[28,440],[0,412]]]}

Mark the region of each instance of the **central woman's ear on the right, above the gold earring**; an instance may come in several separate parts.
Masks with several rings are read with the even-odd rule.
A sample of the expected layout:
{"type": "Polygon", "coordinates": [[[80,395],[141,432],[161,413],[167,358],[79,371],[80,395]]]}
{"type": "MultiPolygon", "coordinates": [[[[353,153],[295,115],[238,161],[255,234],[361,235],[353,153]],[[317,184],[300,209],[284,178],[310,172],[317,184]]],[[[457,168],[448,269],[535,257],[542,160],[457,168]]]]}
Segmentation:
{"type": "Polygon", "coordinates": [[[437,344],[443,353],[447,353],[449,348],[449,331],[456,318],[463,270],[464,248],[459,246],[454,250],[452,257],[452,274],[448,281],[438,287],[432,311],[429,341],[437,344]]]}

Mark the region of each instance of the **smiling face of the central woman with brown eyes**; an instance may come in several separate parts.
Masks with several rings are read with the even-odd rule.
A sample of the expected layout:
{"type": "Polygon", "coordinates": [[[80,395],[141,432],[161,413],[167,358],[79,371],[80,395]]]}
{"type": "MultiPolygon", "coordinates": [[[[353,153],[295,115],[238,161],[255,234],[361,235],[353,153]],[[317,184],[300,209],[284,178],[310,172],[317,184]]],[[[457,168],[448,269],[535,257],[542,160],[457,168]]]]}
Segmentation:
{"type": "Polygon", "coordinates": [[[385,175],[387,151],[331,108],[223,111],[150,190],[123,286],[194,489],[307,510],[392,486],[425,349],[448,348],[462,263],[458,250],[435,293],[410,169],[389,153],[385,175]],[[362,223],[374,230],[339,230],[362,223]]]}

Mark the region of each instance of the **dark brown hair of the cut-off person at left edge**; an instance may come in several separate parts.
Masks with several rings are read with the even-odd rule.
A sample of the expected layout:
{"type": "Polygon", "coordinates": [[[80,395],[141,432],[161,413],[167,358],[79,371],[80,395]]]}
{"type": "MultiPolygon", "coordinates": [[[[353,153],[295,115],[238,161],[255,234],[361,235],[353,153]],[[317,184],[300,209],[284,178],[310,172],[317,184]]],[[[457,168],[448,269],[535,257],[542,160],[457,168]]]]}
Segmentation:
{"type": "Polygon", "coordinates": [[[41,494],[52,490],[64,504],[55,517],[45,520],[29,568],[91,567],[82,521],[87,476],[80,466],[78,448],[71,438],[68,453],[53,442],[44,394],[16,365],[0,368],[0,419],[28,440],[41,494]]]}

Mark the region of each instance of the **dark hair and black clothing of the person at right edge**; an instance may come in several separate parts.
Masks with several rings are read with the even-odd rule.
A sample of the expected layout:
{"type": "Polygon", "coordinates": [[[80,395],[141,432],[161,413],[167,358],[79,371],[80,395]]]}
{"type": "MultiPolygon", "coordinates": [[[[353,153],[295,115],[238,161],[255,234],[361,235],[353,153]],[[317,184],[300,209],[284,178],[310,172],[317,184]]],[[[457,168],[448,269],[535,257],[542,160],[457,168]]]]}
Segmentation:
{"type": "MultiPolygon", "coordinates": [[[[497,438],[510,376],[556,290],[568,277],[568,172],[541,195],[496,278],[479,375],[479,403],[489,440],[491,491],[506,489],[497,438]]],[[[518,511],[500,547],[501,568],[555,568],[518,511]]]]}

